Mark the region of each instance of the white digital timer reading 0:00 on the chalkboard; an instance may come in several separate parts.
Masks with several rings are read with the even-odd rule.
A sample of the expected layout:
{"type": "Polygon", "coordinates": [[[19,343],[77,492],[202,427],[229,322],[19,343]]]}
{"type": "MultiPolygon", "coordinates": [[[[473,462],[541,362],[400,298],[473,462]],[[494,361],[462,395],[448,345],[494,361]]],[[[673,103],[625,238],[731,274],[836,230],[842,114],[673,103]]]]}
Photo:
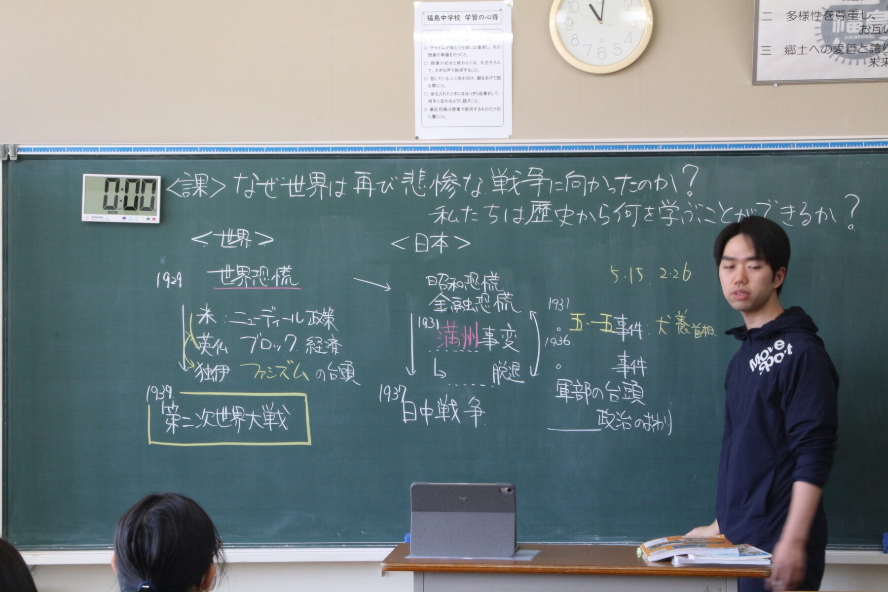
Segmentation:
{"type": "Polygon", "coordinates": [[[83,222],[161,221],[161,178],[147,175],[83,175],[83,222]]]}

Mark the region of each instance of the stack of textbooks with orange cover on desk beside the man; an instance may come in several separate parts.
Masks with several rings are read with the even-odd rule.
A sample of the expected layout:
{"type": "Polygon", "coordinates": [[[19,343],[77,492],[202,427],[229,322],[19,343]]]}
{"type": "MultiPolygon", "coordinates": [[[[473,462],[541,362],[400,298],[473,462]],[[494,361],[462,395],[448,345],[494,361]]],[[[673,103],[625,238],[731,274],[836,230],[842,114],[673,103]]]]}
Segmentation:
{"type": "Polygon", "coordinates": [[[771,554],[752,545],[734,545],[724,536],[667,536],[643,543],[645,560],[672,558],[673,565],[768,565],[771,554]]]}

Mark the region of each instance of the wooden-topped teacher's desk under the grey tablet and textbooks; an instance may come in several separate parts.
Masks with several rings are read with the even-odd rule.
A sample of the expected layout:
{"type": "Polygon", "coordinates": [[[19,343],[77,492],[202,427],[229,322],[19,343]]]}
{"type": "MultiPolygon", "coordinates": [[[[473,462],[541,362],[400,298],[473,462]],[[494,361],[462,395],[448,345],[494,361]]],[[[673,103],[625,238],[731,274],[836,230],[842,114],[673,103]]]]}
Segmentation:
{"type": "Polygon", "coordinates": [[[385,557],[383,572],[414,572],[414,592],[588,592],[652,590],[657,592],[736,592],[737,578],[765,578],[761,565],[675,567],[669,561],[646,564],[635,545],[522,544],[540,549],[530,561],[408,558],[401,543],[385,557]]]}

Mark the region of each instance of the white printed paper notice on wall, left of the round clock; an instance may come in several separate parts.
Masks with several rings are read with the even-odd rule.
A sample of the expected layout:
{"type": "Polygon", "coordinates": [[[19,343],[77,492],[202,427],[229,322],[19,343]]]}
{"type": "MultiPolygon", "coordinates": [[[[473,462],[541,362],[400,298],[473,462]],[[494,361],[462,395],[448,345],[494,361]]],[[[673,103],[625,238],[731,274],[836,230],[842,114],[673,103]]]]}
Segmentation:
{"type": "Polygon", "coordinates": [[[511,137],[511,4],[414,3],[416,139],[511,137]]]}

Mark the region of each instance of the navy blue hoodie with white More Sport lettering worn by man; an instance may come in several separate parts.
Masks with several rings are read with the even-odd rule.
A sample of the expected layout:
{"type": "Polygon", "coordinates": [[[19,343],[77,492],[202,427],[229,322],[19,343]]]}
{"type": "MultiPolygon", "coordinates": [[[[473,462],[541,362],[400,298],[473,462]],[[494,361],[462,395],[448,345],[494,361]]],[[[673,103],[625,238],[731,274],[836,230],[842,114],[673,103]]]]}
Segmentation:
{"type": "MultiPolygon", "coordinates": [[[[797,306],[761,328],[727,333],[742,344],[725,378],[716,517],[729,541],[771,551],[793,482],[822,487],[829,476],[838,375],[817,327],[797,306]]],[[[822,562],[826,539],[821,502],[808,541],[809,563],[817,555],[822,562]]]]}

